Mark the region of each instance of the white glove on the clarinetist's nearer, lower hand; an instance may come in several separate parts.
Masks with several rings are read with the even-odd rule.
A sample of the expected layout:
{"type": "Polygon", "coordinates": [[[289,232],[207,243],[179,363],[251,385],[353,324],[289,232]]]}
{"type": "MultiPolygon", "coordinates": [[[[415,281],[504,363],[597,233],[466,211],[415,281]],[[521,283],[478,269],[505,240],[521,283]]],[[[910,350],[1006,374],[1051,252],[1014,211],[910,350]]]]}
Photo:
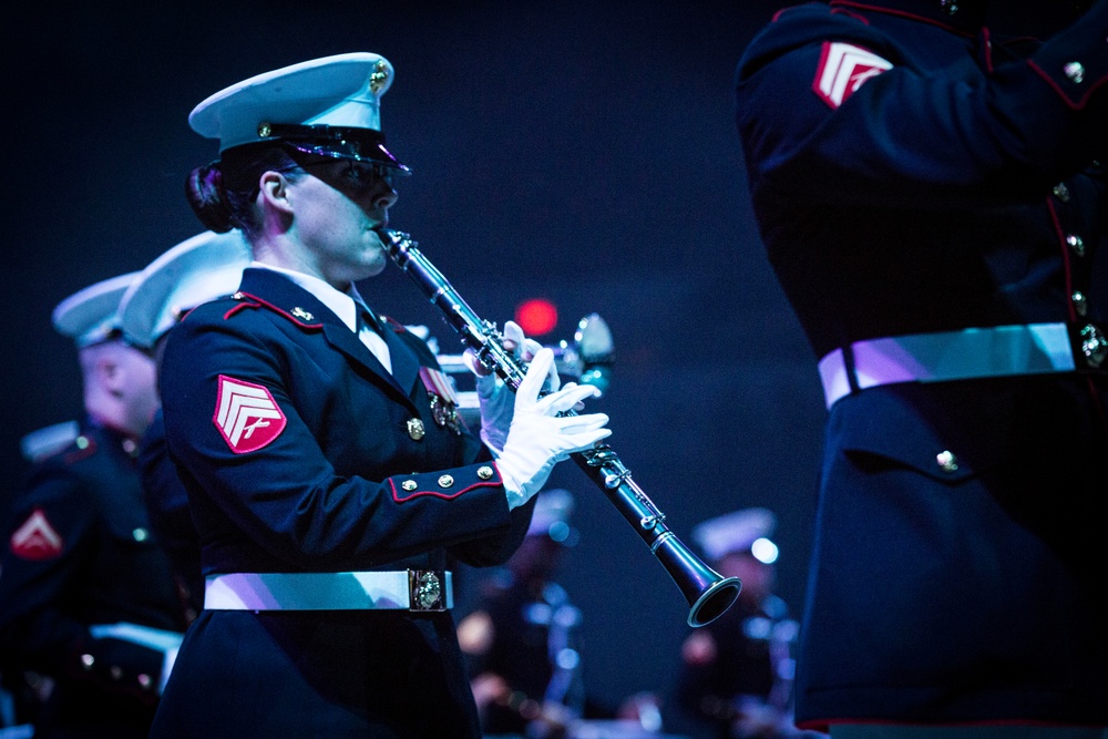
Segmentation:
{"type": "Polygon", "coordinates": [[[599,390],[593,386],[571,382],[538,398],[553,366],[554,352],[548,348],[540,349],[515,391],[512,424],[504,450],[496,460],[509,510],[531,500],[546,484],[555,464],[612,435],[604,428],[608,422],[604,413],[558,415],[574,409],[585,398],[598,396],[599,390]]]}

